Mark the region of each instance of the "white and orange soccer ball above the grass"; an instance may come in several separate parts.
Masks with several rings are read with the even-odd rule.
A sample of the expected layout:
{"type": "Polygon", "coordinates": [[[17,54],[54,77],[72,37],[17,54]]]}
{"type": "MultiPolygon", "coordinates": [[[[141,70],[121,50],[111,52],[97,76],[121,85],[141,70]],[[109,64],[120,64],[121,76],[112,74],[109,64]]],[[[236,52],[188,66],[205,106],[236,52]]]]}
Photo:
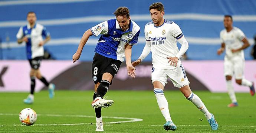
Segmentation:
{"type": "Polygon", "coordinates": [[[26,108],[20,112],[19,118],[23,125],[31,126],[36,122],[37,115],[33,109],[26,108]]]}

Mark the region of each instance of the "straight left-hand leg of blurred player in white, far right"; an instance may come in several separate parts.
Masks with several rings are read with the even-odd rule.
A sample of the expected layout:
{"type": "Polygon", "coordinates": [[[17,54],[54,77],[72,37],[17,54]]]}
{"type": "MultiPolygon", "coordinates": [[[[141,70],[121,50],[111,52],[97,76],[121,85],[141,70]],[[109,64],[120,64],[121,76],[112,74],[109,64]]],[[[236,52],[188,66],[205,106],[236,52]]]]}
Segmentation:
{"type": "Polygon", "coordinates": [[[227,105],[228,107],[236,107],[238,106],[237,104],[237,100],[236,100],[236,94],[234,92],[234,88],[232,86],[232,76],[226,76],[226,87],[227,87],[227,91],[229,93],[229,97],[232,101],[231,104],[227,105]]]}

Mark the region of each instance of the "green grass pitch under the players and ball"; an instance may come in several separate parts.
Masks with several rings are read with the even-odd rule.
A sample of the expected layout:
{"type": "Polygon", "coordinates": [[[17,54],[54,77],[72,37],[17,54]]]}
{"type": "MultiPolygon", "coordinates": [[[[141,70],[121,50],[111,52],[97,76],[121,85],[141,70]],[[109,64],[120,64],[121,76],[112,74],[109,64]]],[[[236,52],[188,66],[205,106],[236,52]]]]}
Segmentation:
{"type": "MultiPolygon", "coordinates": [[[[219,129],[213,131],[204,115],[193,103],[188,101],[179,91],[165,91],[169,103],[171,118],[177,125],[176,133],[255,133],[256,132],[256,97],[249,93],[237,93],[239,106],[227,108],[230,99],[226,93],[213,94],[207,91],[194,91],[209,111],[214,114],[219,129]],[[203,120],[200,120],[203,119],[203,120]]],[[[35,94],[32,105],[23,104],[27,93],[0,93],[0,132],[4,133],[93,133],[95,132],[95,112],[91,107],[93,91],[56,91],[53,99],[48,98],[47,91],[35,94]],[[19,112],[24,108],[32,108],[39,115],[33,126],[21,126],[19,112]],[[11,113],[14,115],[4,115],[11,113]],[[15,115],[17,114],[17,115],[15,115]],[[88,115],[92,118],[46,116],[56,115],[88,115]],[[83,125],[71,124],[86,123],[83,125]],[[92,124],[91,124],[92,123],[92,124]],[[45,126],[42,126],[45,125],[45,126]]],[[[140,118],[143,121],[106,124],[105,133],[166,133],[163,129],[165,119],[158,108],[152,91],[113,91],[108,99],[114,105],[102,109],[102,116],[140,118]]],[[[103,118],[104,122],[124,121],[125,119],[103,118]]],[[[172,132],[172,131],[168,131],[172,132]]]]}

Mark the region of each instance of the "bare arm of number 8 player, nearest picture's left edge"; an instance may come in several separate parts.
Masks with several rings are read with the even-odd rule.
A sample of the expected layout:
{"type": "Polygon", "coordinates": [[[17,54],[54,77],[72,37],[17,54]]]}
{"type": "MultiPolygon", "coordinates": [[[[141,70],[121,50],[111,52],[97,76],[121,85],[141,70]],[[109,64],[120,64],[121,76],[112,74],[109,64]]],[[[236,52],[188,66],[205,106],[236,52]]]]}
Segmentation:
{"type": "Polygon", "coordinates": [[[76,50],[76,53],[73,55],[73,62],[76,62],[76,60],[80,58],[83,50],[83,46],[85,46],[85,43],[88,41],[91,35],[93,35],[91,29],[88,29],[87,31],[85,31],[79,43],[78,49],[76,50]]]}

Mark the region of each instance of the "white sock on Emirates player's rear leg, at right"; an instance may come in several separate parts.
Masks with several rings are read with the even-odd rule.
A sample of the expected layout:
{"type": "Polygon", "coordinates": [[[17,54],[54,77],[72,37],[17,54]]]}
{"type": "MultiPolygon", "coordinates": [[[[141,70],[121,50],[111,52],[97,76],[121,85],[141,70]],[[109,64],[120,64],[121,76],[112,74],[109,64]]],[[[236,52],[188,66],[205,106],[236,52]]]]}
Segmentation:
{"type": "Polygon", "coordinates": [[[187,99],[191,102],[193,102],[196,107],[204,113],[207,120],[211,119],[211,113],[207,110],[204,103],[201,101],[201,99],[194,93],[191,93],[187,99]]]}

